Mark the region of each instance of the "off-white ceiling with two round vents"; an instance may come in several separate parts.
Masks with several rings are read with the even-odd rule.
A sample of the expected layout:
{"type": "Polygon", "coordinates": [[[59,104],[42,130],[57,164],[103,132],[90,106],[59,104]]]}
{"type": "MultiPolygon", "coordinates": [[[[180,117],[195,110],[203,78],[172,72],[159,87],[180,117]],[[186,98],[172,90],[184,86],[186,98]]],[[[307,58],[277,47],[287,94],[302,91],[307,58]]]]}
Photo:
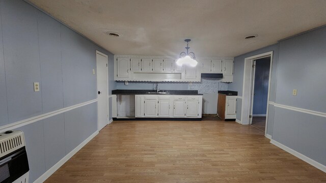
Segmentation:
{"type": "Polygon", "coordinates": [[[178,56],[189,38],[196,56],[237,56],[326,24],[325,0],[30,2],[114,54],[178,56]]]}

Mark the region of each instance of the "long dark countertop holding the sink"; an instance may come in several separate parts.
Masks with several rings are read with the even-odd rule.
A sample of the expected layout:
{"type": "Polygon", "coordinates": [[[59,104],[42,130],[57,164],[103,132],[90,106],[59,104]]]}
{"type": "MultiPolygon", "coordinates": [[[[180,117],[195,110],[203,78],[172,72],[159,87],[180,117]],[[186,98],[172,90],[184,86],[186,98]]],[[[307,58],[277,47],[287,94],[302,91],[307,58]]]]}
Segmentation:
{"type": "Polygon", "coordinates": [[[151,89],[115,89],[112,90],[112,95],[203,95],[203,94],[198,94],[198,90],[160,89],[159,92],[160,93],[156,93],[156,90],[151,90],[151,89]]]}

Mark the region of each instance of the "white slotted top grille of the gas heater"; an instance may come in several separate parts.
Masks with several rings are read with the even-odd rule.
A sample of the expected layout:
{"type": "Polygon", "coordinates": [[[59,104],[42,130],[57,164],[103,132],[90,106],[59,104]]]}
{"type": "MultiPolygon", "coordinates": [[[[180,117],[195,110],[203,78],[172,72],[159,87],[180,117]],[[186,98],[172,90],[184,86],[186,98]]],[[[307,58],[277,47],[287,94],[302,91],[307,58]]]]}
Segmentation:
{"type": "Polygon", "coordinates": [[[6,156],[13,151],[25,146],[25,140],[21,131],[13,131],[0,136],[0,157],[6,156]]]}

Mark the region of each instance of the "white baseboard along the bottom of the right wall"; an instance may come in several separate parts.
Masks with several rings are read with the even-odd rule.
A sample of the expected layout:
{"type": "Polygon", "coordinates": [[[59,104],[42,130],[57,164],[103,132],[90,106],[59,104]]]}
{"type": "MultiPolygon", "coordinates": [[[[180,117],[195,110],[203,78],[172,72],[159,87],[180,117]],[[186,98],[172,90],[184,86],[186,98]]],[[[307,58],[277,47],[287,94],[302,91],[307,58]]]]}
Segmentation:
{"type": "Polygon", "coordinates": [[[322,165],[322,164],[316,162],[315,160],[306,157],[305,155],[299,153],[298,151],[295,151],[295,150],[291,149],[290,147],[288,147],[286,145],[281,144],[278,141],[275,141],[275,140],[271,139],[270,140],[270,143],[272,143],[272,144],[280,147],[281,149],[287,151],[291,155],[293,155],[293,156],[295,156],[295,157],[297,157],[297,158],[299,158],[299,159],[301,159],[301,160],[309,163],[310,165],[312,165],[312,166],[314,166],[314,167],[318,168],[319,170],[321,170],[321,171],[323,171],[323,172],[326,173],[326,166],[325,165],[322,165]]]}

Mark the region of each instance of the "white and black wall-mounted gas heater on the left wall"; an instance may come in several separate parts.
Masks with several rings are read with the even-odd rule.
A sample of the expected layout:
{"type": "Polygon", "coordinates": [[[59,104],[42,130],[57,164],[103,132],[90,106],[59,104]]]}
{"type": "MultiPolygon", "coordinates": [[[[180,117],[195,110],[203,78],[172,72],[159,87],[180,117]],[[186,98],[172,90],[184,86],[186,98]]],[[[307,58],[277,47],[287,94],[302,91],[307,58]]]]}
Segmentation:
{"type": "Polygon", "coordinates": [[[0,183],[29,182],[29,162],[21,131],[0,134],[0,183]]]}

